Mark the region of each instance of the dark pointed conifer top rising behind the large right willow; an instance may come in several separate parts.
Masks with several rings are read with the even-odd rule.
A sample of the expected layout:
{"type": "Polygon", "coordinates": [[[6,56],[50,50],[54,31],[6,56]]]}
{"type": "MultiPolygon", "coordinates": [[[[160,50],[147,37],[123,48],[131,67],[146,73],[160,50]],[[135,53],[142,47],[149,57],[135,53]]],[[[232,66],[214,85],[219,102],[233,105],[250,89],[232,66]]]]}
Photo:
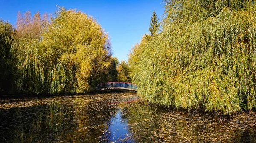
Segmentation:
{"type": "Polygon", "coordinates": [[[155,36],[159,32],[159,26],[160,23],[158,22],[157,14],[155,13],[155,11],[153,11],[149,26],[149,31],[151,35],[145,34],[145,37],[147,39],[150,39],[151,36],[155,36]]]}

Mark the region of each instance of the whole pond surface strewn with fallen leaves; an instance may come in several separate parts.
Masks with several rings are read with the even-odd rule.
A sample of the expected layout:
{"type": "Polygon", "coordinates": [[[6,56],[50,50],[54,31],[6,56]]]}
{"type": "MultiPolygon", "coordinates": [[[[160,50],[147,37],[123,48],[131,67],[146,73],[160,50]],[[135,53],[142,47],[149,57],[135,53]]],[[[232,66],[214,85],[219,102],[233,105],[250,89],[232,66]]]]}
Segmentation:
{"type": "Polygon", "coordinates": [[[256,142],[255,112],[223,116],[135,99],[136,93],[1,98],[0,143],[256,142]]]}

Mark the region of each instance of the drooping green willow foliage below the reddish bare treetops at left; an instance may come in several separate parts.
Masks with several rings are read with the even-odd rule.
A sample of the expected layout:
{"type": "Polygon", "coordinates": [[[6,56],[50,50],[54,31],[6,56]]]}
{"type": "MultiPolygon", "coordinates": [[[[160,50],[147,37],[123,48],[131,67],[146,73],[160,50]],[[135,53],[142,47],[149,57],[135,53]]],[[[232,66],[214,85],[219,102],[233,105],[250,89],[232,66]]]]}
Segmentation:
{"type": "Polygon", "coordinates": [[[11,53],[15,65],[12,93],[42,93],[45,89],[44,59],[38,39],[15,39],[11,53]]]}

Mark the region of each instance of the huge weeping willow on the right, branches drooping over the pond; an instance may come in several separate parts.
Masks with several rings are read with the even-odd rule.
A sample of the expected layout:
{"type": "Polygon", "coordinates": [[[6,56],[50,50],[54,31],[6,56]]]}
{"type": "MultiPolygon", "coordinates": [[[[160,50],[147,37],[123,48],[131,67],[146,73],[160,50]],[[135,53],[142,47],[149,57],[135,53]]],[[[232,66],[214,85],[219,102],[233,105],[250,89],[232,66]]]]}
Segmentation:
{"type": "Polygon", "coordinates": [[[139,94],[224,114],[255,108],[255,10],[251,0],[166,0],[163,30],[129,56],[139,94]]]}

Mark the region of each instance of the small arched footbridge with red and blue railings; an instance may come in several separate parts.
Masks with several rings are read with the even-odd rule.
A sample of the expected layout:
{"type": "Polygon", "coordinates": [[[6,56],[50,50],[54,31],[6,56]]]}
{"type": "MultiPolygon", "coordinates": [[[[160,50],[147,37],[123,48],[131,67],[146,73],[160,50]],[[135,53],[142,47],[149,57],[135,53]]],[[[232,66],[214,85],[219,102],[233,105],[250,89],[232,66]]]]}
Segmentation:
{"type": "Polygon", "coordinates": [[[107,82],[98,84],[96,90],[109,90],[109,89],[124,89],[137,91],[137,85],[125,82],[107,82]]]}

